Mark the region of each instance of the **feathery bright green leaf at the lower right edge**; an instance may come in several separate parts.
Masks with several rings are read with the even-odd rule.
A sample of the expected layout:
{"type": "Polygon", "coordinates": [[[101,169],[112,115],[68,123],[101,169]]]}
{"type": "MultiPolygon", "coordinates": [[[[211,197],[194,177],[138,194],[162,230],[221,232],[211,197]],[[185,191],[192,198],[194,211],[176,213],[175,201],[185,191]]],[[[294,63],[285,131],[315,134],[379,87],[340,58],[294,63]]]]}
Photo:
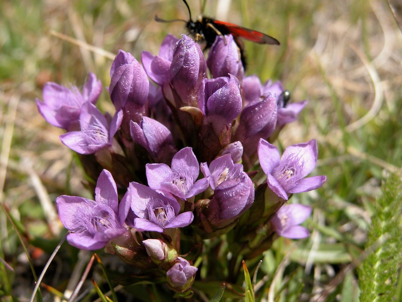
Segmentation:
{"type": "Polygon", "coordinates": [[[400,301],[402,263],[402,174],[390,175],[374,202],[366,242],[367,258],[359,268],[361,301],[400,301]]]}

